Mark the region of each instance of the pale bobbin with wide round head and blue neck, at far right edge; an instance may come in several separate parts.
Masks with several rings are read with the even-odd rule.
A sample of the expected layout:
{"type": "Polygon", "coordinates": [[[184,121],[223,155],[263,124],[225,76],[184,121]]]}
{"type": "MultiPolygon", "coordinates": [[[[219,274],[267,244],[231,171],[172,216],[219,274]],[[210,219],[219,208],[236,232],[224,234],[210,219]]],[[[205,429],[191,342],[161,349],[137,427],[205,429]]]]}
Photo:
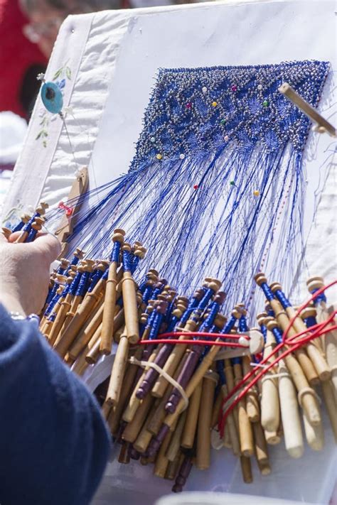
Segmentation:
{"type": "MultiPolygon", "coordinates": [[[[311,295],[324,286],[323,278],[321,277],[311,277],[306,284],[311,295]]],[[[314,303],[317,310],[317,321],[326,321],[328,317],[330,317],[330,314],[326,305],[325,295],[323,295],[323,293],[319,295],[319,297],[314,300],[314,303]]],[[[333,383],[335,401],[337,402],[337,330],[332,330],[323,337],[323,349],[326,354],[326,361],[331,369],[331,381],[333,383]]]]}

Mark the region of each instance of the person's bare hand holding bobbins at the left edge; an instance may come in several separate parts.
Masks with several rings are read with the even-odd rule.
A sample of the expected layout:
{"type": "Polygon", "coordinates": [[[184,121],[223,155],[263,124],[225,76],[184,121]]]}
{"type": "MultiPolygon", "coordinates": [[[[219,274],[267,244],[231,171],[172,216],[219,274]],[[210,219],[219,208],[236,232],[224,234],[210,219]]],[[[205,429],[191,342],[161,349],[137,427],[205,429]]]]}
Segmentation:
{"type": "Polygon", "coordinates": [[[48,293],[50,264],[60,254],[53,235],[41,235],[28,244],[15,244],[0,233],[0,303],[23,315],[39,313],[48,293]]]}

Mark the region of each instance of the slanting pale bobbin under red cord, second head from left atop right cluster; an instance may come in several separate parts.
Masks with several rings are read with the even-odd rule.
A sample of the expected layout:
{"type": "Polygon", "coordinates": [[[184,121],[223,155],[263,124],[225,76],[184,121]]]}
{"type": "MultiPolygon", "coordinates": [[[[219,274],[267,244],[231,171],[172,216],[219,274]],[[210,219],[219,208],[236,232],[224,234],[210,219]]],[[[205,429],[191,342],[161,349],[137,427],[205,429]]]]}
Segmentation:
{"type": "MultiPolygon", "coordinates": [[[[272,283],[269,288],[282,304],[282,307],[286,311],[289,320],[293,319],[296,315],[296,310],[294,310],[294,307],[290,305],[289,300],[285,297],[281,285],[279,283],[272,283]]],[[[307,330],[304,321],[301,320],[301,317],[299,317],[299,315],[296,315],[292,325],[296,333],[305,332],[307,330]]],[[[294,342],[296,342],[296,340],[294,342]]],[[[321,381],[327,381],[330,379],[330,367],[328,366],[326,359],[323,357],[323,354],[321,354],[319,348],[316,347],[314,342],[309,342],[306,344],[306,352],[308,352],[311,362],[314,364],[314,368],[316,369],[316,373],[319,375],[319,379],[321,381]]]]}

